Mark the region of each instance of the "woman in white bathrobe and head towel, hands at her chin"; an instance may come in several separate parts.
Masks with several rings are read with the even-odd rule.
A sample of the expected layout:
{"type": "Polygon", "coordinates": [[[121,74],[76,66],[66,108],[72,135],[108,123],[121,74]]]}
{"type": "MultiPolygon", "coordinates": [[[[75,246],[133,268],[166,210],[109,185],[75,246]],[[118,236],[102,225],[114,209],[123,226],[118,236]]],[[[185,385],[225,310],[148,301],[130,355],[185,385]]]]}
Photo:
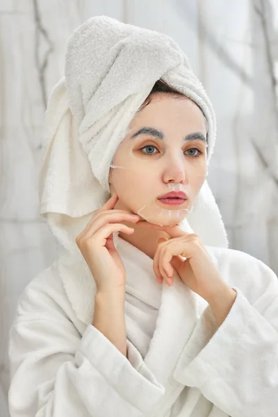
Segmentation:
{"type": "Polygon", "coordinates": [[[46,136],[41,213],[61,252],[19,299],[10,416],[274,417],[277,276],[227,247],[213,108],[177,44],[89,19],[46,136]]]}

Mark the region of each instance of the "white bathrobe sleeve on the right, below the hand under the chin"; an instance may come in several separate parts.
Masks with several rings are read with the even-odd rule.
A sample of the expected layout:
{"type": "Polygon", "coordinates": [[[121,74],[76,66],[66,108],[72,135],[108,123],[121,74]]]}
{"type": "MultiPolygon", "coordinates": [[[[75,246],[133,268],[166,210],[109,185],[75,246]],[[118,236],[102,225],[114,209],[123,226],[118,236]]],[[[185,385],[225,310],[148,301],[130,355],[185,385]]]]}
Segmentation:
{"type": "Polygon", "coordinates": [[[277,417],[277,276],[252,256],[237,273],[238,284],[231,286],[236,300],[227,318],[213,334],[211,307],[206,307],[204,322],[211,338],[204,332],[204,322],[195,328],[174,377],[197,387],[231,417],[277,417]]]}

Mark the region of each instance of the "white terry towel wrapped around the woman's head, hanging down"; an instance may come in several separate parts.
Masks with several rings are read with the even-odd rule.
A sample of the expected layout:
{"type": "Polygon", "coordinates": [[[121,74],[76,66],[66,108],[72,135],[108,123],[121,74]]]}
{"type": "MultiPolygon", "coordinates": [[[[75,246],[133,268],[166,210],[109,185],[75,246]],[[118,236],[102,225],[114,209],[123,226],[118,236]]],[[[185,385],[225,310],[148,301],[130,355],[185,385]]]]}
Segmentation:
{"type": "MultiPolygon", "coordinates": [[[[179,45],[155,31],[92,17],[67,46],[65,76],[51,92],[45,115],[46,149],[40,204],[54,236],[71,252],[75,238],[110,197],[113,156],[133,116],[158,79],[195,101],[208,125],[208,161],[215,145],[215,114],[179,45]]],[[[228,247],[213,194],[204,182],[181,227],[204,244],[228,247]]]]}

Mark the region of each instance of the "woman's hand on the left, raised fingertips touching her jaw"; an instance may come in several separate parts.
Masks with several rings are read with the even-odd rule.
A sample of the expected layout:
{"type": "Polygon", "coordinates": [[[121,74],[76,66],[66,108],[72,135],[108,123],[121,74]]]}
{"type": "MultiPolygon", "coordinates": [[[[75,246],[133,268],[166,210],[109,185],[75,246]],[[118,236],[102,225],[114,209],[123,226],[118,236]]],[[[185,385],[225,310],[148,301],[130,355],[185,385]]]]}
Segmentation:
{"type": "Polygon", "coordinates": [[[125,293],[126,271],[115,248],[113,233],[122,231],[132,234],[134,229],[121,222],[135,223],[140,219],[139,215],[128,211],[113,210],[118,198],[115,193],[108,199],[76,237],[76,244],[92,272],[99,293],[111,293],[119,289],[125,293]]]}

